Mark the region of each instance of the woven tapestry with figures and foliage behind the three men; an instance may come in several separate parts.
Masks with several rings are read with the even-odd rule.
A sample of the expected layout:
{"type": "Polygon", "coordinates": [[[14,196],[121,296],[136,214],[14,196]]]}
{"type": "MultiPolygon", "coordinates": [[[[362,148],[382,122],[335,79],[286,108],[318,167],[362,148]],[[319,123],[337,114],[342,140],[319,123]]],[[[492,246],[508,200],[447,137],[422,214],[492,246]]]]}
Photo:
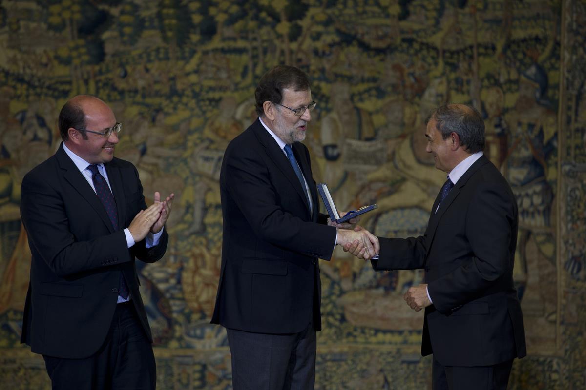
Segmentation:
{"type": "MultiPolygon", "coordinates": [[[[124,123],[115,153],[145,195],[178,195],[165,258],[137,263],[158,388],[231,388],[226,333],[209,324],[219,168],[255,119],[255,82],[287,63],[318,102],[305,140],[316,181],[341,209],[377,203],[362,219],[377,235],[423,233],[445,180],[424,151],[430,109],[482,112],[485,153],[519,199],[529,356],[510,388],[585,388],[585,47],[584,0],[0,1],[0,383],[50,388],[19,344],[30,268],[19,188],[59,146],[63,103],[83,93],[124,123]]],[[[342,251],[321,270],[316,388],[431,388],[423,313],[401,298],[421,272],[375,273],[342,251]]]]}

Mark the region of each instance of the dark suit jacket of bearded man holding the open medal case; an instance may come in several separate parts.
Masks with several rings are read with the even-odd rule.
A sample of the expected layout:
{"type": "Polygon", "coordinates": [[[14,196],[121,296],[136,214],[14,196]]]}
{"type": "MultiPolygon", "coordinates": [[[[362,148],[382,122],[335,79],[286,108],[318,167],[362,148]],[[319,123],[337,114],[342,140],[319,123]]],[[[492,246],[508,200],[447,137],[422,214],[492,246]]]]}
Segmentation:
{"type": "Polygon", "coordinates": [[[222,270],[212,323],[257,333],[301,332],[313,318],[321,329],[317,258],[329,260],[336,229],[319,215],[309,153],[294,143],[311,189],[257,119],[232,140],[220,172],[222,270]]]}

